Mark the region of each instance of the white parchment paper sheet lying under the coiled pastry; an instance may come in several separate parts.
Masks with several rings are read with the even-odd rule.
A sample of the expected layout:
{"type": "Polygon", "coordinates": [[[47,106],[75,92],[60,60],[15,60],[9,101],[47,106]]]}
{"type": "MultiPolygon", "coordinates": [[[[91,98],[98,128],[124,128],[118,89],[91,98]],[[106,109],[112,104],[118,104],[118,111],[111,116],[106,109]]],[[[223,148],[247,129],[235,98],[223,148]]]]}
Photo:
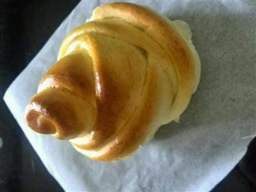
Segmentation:
{"type": "Polygon", "coordinates": [[[255,1],[137,1],[188,22],[202,78],[180,123],[164,125],[130,159],[91,161],[68,141],[37,134],[24,108],[56,61],[61,40],[106,1],[82,1],[4,95],[45,167],[67,191],[209,191],[236,165],[256,133],[255,1]]]}

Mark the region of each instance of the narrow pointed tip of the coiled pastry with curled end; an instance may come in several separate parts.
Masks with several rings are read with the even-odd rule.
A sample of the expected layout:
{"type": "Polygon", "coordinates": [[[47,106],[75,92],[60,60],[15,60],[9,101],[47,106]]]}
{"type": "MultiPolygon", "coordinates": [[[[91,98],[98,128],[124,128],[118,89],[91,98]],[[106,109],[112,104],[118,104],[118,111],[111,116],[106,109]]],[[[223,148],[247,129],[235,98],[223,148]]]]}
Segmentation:
{"type": "Polygon", "coordinates": [[[95,124],[94,95],[90,57],[84,52],[70,54],[45,74],[26,108],[26,122],[34,131],[59,139],[74,138],[91,131],[95,124]]]}

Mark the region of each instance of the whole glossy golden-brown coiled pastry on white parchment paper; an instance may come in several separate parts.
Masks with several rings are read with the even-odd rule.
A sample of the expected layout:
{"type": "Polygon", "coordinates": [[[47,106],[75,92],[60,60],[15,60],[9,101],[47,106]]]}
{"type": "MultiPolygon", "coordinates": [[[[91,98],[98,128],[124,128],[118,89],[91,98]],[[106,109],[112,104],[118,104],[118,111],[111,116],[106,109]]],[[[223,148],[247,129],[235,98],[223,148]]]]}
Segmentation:
{"type": "Polygon", "coordinates": [[[199,79],[188,24],[138,4],[103,4],[63,40],[26,123],[91,159],[115,161],[179,120],[199,79]]]}

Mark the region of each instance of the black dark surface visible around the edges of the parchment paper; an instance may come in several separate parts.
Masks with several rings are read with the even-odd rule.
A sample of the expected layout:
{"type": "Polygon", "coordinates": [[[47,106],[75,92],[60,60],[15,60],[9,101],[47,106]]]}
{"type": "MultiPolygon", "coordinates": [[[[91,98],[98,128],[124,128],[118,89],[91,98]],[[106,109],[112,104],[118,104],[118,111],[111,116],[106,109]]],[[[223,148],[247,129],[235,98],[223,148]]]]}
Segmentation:
{"type": "MultiPolygon", "coordinates": [[[[77,3],[0,0],[0,98],[77,3]]],[[[3,99],[0,137],[0,191],[63,191],[41,163],[3,99]]],[[[253,140],[243,160],[212,191],[256,191],[255,146],[253,140]]]]}

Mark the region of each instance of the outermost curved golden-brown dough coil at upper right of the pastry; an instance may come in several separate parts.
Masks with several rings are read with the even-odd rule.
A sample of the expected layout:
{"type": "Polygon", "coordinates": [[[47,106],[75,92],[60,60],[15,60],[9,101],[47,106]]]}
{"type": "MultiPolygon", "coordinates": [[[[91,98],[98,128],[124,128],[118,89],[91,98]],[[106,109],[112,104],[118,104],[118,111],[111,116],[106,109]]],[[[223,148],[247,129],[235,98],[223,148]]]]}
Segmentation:
{"type": "Polygon", "coordinates": [[[179,118],[179,115],[188,106],[191,92],[197,87],[195,60],[185,40],[172,25],[172,22],[166,21],[161,15],[138,4],[109,3],[93,10],[92,20],[108,17],[123,19],[142,29],[168,53],[177,71],[179,81],[177,100],[172,106],[170,116],[179,118]]]}

